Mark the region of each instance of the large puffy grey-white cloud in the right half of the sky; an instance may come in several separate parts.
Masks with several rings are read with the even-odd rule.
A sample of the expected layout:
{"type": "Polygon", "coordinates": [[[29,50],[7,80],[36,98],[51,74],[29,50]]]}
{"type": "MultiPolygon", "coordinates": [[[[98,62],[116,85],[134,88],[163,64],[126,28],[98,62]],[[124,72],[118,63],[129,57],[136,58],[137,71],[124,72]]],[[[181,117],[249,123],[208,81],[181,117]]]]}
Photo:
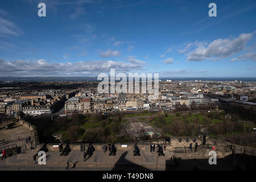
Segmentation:
{"type": "MultiPolygon", "coordinates": [[[[208,46],[198,46],[188,54],[188,61],[203,61],[210,59],[224,59],[235,53],[243,51],[253,33],[241,34],[237,38],[217,39],[209,43],[208,46]]],[[[198,44],[200,45],[200,44],[198,44]]]]}

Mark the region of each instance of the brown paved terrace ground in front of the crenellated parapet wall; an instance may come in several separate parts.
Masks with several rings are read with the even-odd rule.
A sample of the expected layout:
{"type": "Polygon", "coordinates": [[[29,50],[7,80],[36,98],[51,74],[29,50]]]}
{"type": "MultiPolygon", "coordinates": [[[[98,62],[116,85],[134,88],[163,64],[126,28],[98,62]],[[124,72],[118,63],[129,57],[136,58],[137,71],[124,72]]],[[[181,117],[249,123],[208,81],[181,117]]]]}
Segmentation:
{"type": "MultiPolygon", "coordinates": [[[[117,155],[109,156],[108,152],[95,151],[84,162],[83,152],[71,151],[68,156],[60,156],[59,152],[47,152],[46,165],[34,164],[35,151],[27,150],[22,154],[10,156],[0,160],[0,170],[65,170],[65,164],[69,161],[73,171],[81,170],[193,170],[195,166],[202,170],[232,170],[232,165],[224,160],[217,160],[217,165],[209,165],[205,158],[207,151],[198,153],[176,154],[179,167],[175,167],[174,155],[166,151],[165,156],[158,156],[156,152],[141,151],[141,156],[133,156],[133,151],[117,151],[117,155]],[[75,164],[75,165],[74,165],[75,164]]],[[[37,157],[38,160],[39,156],[37,157]]]]}

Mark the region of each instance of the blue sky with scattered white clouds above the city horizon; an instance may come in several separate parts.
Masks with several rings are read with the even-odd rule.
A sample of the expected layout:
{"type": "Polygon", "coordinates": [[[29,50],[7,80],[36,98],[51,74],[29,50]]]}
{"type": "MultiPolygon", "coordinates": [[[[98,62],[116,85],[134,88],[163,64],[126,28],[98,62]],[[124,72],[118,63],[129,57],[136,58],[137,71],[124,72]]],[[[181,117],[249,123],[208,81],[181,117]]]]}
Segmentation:
{"type": "Polygon", "coordinates": [[[254,0],[4,0],[0,76],[256,77],[255,12],[254,0]]]}

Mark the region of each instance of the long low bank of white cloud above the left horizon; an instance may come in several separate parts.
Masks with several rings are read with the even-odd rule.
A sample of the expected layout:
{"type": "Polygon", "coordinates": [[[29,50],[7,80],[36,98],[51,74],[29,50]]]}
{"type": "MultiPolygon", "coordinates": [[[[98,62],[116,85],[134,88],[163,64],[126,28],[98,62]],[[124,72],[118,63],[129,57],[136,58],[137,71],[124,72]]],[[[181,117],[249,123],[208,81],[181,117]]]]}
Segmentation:
{"type": "Polygon", "coordinates": [[[77,61],[75,63],[50,63],[37,61],[5,61],[0,59],[0,76],[97,76],[98,73],[116,69],[116,72],[130,72],[143,69],[144,61],[129,57],[123,61],[77,61]]]}

